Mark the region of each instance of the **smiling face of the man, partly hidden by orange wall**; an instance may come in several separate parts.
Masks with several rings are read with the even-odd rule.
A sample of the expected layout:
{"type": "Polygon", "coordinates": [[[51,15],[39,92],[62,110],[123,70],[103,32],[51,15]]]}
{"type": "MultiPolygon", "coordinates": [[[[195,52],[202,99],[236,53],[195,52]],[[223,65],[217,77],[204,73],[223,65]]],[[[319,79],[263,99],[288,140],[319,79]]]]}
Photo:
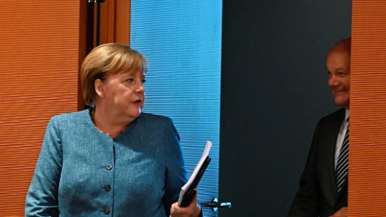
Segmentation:
{"type": "Polygon", "coordinates": [[[327,56],[328,85],[336,105],[349,110],[350,56],[345,51],[332,51],[327,56]]]}

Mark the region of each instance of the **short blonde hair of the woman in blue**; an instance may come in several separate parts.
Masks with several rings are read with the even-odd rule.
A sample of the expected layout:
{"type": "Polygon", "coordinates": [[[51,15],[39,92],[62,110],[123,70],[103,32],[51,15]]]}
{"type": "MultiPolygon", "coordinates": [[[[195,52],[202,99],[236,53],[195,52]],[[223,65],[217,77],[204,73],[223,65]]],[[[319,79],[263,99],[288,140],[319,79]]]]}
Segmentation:
{"type": "Polygon", "coordinates": [[[110,74],[141,70],[148,71],[148,60],[143,54],[127,45],[106,43],[94,48],[81,65],[81,86],[86,105],[94,103],[96,79],[110,74]]]}

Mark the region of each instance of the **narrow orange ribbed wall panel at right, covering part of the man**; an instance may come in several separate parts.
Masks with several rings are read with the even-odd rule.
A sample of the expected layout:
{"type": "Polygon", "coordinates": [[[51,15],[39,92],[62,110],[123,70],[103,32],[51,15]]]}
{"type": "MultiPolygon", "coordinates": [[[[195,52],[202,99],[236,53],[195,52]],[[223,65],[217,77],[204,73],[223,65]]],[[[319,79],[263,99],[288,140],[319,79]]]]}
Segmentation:
{"type": "Polygon", "coordinates": [[[349,216],[385,216],[386,1],[352,5],[349,216]]]}

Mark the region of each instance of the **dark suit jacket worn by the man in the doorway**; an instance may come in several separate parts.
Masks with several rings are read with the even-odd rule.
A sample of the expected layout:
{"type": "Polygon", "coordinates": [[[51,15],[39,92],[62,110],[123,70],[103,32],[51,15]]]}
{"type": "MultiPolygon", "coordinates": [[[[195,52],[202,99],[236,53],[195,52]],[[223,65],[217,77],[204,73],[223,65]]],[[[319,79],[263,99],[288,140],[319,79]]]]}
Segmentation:
{"type": "Polygon", "coordinates": [[[316,125],[300,189],[288,217],[325,217],[347,207],[347,178],[337,194],[334,169],[336,139],[344,118],[345,109],[341,109],[321,118],[316,125]]]}

